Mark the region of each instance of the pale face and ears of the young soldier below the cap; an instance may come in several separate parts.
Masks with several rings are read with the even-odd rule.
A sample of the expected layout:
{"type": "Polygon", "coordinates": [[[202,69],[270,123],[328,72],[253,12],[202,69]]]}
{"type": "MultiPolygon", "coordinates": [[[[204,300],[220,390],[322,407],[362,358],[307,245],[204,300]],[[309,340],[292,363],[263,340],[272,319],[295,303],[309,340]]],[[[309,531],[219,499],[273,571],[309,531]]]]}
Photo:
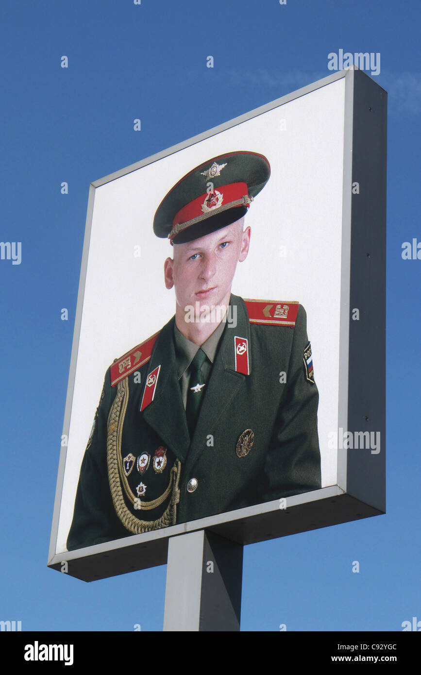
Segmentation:
{"type": "Polygon", "coordinates": [[[165,286],[175,288],[175,300],[186,307],[227,306],[237,263],[250,245],[250,227],[244,218],[186,244],[174,245],[174,258],[164,263],[165,286]],[[199,302],[199,305],[196,305],[199,302]]]}

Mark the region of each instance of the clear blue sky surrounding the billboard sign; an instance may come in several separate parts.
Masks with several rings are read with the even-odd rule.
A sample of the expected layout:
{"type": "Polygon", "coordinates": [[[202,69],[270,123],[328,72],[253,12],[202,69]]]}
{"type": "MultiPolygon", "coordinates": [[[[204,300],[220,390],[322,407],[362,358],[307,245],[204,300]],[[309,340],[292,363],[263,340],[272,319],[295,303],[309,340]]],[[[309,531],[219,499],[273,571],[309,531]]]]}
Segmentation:
{"type": "Polygon", "coordinates": [[[389,92],[387,514],[245,547],[242,630],[420,620],[421,261],[401,258],[402,242],[421,240],[419,3],[22,0],[0,11],[0,240],[22,242],[20,265],[0,261],[0,619],[163,625],[165,566],[91,584],[47,568],[90,182],[329,75],[328,54],[343,49],[380,53],[374,79],[389,92]]]}

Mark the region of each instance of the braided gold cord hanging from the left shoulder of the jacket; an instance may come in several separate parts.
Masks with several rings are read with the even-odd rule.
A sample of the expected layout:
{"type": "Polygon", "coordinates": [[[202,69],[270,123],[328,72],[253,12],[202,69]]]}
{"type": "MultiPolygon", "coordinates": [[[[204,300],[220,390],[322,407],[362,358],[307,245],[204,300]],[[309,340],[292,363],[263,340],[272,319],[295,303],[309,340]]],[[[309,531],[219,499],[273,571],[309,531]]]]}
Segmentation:
{"type": "MultiPolygon", "coordinates": [[[[121,478],[123,478],[122,471],[119,468],[121,464],[121,433],[123,430],[123,421],[125,416],[125,411],[128,404],[128,383],[127,379],[118,383],[117,394],[111,410],[108,416],[108,435],[107,435],[107,466],[108,466],[108,479],[111,489],[111,497],[113,498],[113,504],[117,516],[123,523],[126,529],[132,532],[135,535],[140,535],[144,532],[150,532],[151,530],[157,530],[161,527],[167,527],[168,525],[175,525],[175,519],[177,516],[177,504],[179,502],[179,475],[181,469],[181,462],[175,460],[173,468],[170,472],[170,481],[165,495],[169,494],[171,491],[172,485],[172,495],[169,501],[169,504],[165,511],[163,512],[161,518],[157,520],[141,520],[136,518],[127,506],[125,506],[123,490],[121,489],[121,478]],[[124,383],[124,384],[123,384],[124,383]]],[[[125,487],[125,486],[124,486],[125,487]]],[[[161,499],[159,497],[159,499],[161,499]]],[[[159,502],[159,499],[155,499],[154,502],[140,502],[142,508],[146,504],[154,504],[159,502]]],[[[163,501],[163,499],[162,499],[163,501]]],[[[162,503],[162,502],[161,502],[162,503]]],[[[149,506],[149,508],[152,508],[149,506]]]]}

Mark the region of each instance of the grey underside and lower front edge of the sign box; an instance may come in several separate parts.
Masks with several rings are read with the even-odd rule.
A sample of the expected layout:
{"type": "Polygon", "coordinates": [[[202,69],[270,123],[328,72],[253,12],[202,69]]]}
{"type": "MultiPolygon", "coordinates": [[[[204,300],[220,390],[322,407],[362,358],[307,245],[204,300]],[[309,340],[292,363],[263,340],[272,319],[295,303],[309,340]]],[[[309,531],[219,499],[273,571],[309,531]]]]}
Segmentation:
{"type": "Polygon", "coordinates": [[[248,506],[229,514],[209,516],[143,535],[130,535],[78,551],[59,553],[49,562],[49,566],[61,571],[61,561],[65,560],[69,576],[94,581],[165,565],[169,537],[184,533],[206,530],[206,533],[211,531],[246,545],[380,514],[372,506],[344,494],[337,486],[325,487],[287,497],[285,509],[279,509],[278,500],[248,506]]]}

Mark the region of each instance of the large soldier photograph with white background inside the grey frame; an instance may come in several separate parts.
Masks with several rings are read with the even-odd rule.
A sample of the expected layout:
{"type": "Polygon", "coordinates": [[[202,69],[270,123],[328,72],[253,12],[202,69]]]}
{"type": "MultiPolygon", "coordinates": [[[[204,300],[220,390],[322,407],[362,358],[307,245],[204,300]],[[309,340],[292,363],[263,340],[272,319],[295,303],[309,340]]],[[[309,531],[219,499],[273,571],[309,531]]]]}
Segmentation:
{"type": "Polygon", "coordinates": [[[95,188],[57,553],[337,483],[344,96],[95,188]]]}

